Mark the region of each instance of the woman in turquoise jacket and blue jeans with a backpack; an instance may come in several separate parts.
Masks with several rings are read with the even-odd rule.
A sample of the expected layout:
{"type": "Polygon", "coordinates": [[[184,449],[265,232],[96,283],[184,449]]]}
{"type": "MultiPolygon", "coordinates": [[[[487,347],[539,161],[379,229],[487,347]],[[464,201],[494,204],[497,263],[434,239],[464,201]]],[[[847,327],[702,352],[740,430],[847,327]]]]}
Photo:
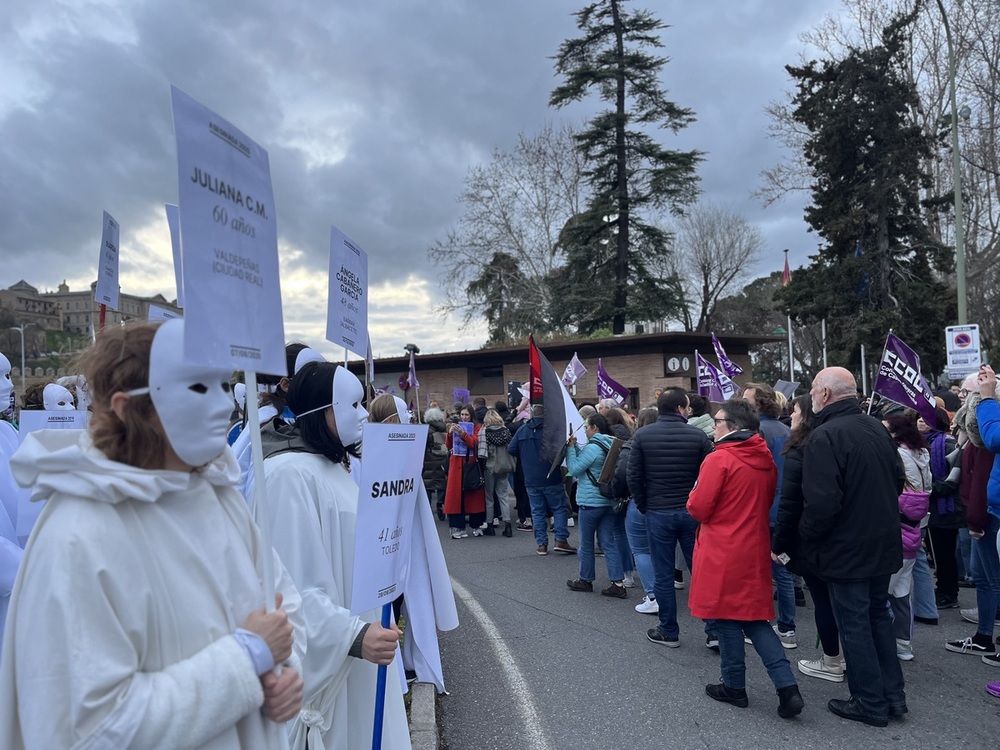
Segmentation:
{"type": "Polygon", "coordinates": [[[580,577],[566,582],[573,591],[593,591],[594,578],[594,534],[604,550],[604,562],[608,567],[611,585],[602,589],[604,596],[618,599],[628,597],[624,585],[625,573],[615,544],[615,514],[612,501],[601,494],[597,478],[604,468],[604,459],[611,448],[611,430],[608,421],[600,414],[587,418],[584,428],[587,444],[582,448],[576,436],[569,439],[566,448],[566,468],[577,479],[576,504],[580,508],[580,577]]]}

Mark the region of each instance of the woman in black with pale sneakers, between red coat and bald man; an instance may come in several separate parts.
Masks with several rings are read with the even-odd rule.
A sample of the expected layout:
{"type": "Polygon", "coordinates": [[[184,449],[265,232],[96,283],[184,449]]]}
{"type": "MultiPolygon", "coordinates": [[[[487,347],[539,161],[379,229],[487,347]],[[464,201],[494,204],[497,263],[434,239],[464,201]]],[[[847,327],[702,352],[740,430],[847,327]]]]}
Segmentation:
{"type": "Polygon", "coordinates": [[[829,682],[844,681],[844,657],[840,653],[840,631],[833,616],[826,582],[802,564],[799,555],[799,519],[802,518],[802,452],[813,426],[812,397],[799,396],[792,401],[792,432],[785,441],[785,467],[781,476],[781,500],[771,535],[771,558],[780,562],[787,555],[785,567],[802,576],[813,599],[816,632],[823,647],[819,659],[800,659],[799,671],[809,677],[829,682]]]}

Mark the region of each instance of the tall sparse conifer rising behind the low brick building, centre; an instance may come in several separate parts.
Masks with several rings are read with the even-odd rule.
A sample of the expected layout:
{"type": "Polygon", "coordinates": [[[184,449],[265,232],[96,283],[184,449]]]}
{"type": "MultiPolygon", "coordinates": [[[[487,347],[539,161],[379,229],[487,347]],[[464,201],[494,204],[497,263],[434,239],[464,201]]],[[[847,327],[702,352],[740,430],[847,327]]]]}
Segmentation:
{"type": "Polygon", "coordinates": [[[676,133],[694,115],[668,100],[660,86],[667,59],[644,51],[663,46],[659,32],[666,25],[646,10],[626,12],[626,2],[599,0],[576,13],[583,36],[560,45],[554,59],[564,83],[549,97],[551,106],[562,107],[595,91],[611,105],[576,136],[592,200],[563,231],[571,267],[554,278],[554,293],[561,298],[555,306],[561,309],[553,317],[581,330],[610,322],[613,333],[624,333],[626,320],[662,318],[682,304],[676,284],[647,270],[650,259],[668,253],[669,246],[644,211],[679,211],[693,202],[701,161],[700,152],[666,149],[645,131],[676,133]],[[602,250],[602,238],[613,250],[602,250]],[[588,304],[567,306],[570,299],[588,304]]]}

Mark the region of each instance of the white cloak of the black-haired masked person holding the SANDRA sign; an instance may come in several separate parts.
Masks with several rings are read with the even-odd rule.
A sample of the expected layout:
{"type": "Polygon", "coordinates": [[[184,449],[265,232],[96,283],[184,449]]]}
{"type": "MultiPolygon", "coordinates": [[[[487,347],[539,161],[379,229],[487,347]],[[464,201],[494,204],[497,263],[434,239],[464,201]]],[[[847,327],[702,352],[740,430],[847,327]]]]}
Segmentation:
{"type": "MultiPolygon", "coordinates": [[[[372,744],[378,667],[348,656],[364,623],[350,613],[358,486],[341,464],[287,452],[264,461],[271,542],[302,595],[309,650],[303,660],[303,709],[293,750],[359,750],[372,744]]],[[[264,519],[257,518],[258,523],[264,519]]],[[[399,669],[396,659],[390,675],[399,669]]],[[[399,681],[386,680],[384,750],[406,750],[410,734],[399,681]]]]}

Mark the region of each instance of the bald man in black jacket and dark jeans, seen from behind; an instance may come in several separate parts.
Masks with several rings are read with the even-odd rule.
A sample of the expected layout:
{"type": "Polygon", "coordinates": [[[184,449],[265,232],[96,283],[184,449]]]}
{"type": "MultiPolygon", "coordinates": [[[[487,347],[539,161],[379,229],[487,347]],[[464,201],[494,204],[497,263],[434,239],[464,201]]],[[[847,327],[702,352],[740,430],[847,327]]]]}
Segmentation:
{"type": "Polygon", "coordinates": [[[907,710],[886,608],[889,577],[903,562],[903,467],[889,433],[861,411],[849,371],[820,370],[810,394],[816,418],[803,455],[800,553],[829,584],[851,689],[829,709],[884,727],[907,710]]]}

